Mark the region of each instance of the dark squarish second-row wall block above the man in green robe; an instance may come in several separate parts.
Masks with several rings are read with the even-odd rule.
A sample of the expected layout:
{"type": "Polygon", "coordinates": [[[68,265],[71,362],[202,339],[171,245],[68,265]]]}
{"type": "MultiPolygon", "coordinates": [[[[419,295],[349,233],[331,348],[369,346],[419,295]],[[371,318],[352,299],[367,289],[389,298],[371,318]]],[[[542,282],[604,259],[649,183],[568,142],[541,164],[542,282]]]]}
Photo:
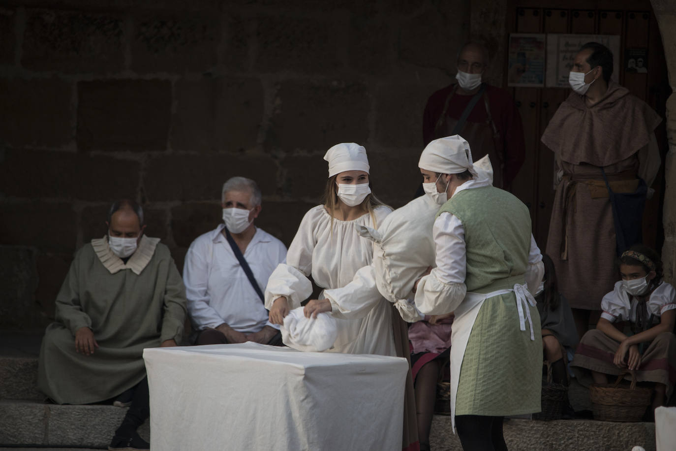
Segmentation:
{"type": "Polygon", "coordinates": [[[171,116],[169,80],[78,82],[78,149],[166,150],[171,116]]]}

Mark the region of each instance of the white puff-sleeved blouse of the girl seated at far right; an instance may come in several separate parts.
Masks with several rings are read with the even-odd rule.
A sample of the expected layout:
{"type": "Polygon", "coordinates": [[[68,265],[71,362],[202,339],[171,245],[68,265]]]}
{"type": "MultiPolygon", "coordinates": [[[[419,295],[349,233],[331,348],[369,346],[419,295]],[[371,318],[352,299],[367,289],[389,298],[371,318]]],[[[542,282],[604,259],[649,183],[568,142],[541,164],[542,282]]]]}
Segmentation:
{"type": "MultiPolygon", "coordinates": [[[[638,303],[636,298],[630,297],[627,293],[622,281],[617,281],[614,289],[606,294],[601,301],[601,310],[603,310],[601,318],[607,319],[610,323],[615,321],[635,323],[638,303]]],[[[646,307],[648,314],[661,317],[662,313],[676,308],[676,290],[670,283],[662,282],[650,294],[646,307]]]]}

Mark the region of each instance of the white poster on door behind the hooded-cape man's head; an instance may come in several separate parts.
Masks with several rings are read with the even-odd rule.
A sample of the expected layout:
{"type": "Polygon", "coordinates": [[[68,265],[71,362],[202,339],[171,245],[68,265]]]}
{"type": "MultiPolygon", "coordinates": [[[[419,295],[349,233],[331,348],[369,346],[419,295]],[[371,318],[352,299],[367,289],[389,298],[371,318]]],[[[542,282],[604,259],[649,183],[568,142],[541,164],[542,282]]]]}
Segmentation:
{"type": "Polygon", "coordinates": [[[619,34],[547,34],[547,74],[548,88],[569,88],[568,76],[573,68],[573,60],[580,47],[588,42],[597,42],[610,49],[613,56],[612,77],[617,81],[620,69],[619,34]]]}

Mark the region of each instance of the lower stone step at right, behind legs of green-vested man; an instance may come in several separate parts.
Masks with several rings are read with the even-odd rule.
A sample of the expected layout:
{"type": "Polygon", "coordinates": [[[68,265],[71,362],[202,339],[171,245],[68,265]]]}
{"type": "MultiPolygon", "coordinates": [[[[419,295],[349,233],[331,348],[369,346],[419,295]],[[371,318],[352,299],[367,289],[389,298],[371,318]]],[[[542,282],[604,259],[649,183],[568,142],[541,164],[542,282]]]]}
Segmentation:
{"type": "MultiPolygon", "coordinates": [[[[631,451],[642,446],[655,450],[655,423],[613,423],[594,420],[505,421],[504,437],[510,451],[631,451]]],[[[430,432],[434,451],[462,451],[451,418],[435,415],[430,432]]]]}

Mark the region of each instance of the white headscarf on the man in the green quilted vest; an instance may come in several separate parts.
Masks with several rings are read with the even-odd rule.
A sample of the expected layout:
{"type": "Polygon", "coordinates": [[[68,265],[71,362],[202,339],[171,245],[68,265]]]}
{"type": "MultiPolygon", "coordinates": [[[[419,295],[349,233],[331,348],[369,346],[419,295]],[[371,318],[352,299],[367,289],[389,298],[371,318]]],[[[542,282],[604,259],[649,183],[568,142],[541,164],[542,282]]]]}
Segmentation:
{"type": "Polygon", "coordinates": [[[441,174],[460,174],[468,170],[475,178],[472,151],[460,135],[435,139],[420,154],[418,168],[441,174]]]}

